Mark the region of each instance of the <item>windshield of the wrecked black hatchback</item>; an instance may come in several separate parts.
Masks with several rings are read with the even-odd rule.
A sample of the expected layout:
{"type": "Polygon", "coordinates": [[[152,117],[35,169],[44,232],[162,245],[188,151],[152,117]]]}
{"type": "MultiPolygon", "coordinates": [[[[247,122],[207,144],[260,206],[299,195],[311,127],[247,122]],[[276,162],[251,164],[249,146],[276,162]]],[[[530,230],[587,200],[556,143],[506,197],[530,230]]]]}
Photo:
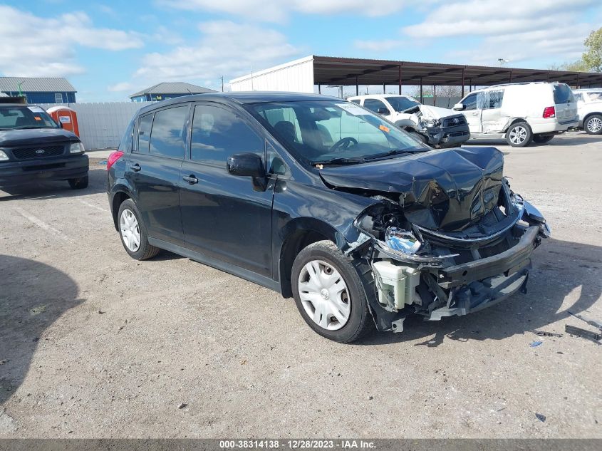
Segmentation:
{"type": "Polygon", "coordinates": [[[380,116],[345,100],[255,103],[246,108],[300,160],[354,164],[430,150],[380,116]]]}

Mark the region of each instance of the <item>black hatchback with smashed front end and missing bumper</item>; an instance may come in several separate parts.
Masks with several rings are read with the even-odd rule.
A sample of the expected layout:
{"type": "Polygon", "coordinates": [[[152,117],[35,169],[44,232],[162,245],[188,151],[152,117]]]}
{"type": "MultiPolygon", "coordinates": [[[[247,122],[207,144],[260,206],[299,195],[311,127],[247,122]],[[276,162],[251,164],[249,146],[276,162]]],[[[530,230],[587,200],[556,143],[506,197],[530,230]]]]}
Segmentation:
{"type": "Polygon", "coordinates": [[[499,150],[433,150],[322,95],[150,105],[107,166],[130,256],[167,249],[294,296],[314,331],[341,342],[524,290],[549,235],[510,189],[499,150]]]}

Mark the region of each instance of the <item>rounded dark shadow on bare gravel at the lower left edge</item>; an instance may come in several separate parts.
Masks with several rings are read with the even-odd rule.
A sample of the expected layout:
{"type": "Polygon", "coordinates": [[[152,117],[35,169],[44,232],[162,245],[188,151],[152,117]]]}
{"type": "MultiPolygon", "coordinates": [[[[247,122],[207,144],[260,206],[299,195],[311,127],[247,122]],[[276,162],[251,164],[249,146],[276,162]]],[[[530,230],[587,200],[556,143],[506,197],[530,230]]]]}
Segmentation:
{"type": "Polygon", "coordinates": [[[78,286],[52,266],[0,254],[0,405],[26,377],[44,331],[77,299],[78,286]]]}

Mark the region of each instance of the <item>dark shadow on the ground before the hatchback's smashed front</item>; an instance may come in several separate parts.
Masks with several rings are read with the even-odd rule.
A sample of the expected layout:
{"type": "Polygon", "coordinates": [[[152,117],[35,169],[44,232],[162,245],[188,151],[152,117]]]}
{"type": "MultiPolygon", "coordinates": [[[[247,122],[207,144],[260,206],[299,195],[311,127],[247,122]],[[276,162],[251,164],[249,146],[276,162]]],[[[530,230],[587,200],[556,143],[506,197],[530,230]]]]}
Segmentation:
{"type": "Polygon", "coordinates": [[[527,294],[517,293],[489,309],[441,321],[423,321],[411,315],[403,332],[371,333],[357,344],[422,340],[414,346],[435,347],[447,340],[502,340],[537,330],[564,333],[564,326],[551,324],[569,318],[569,310],[587,311],[600,298],[601,271],[602,247],[547,239],[533,254],[527,294]],[[569,294],[576,296],[576,301],[568,302],[569,294]]]}

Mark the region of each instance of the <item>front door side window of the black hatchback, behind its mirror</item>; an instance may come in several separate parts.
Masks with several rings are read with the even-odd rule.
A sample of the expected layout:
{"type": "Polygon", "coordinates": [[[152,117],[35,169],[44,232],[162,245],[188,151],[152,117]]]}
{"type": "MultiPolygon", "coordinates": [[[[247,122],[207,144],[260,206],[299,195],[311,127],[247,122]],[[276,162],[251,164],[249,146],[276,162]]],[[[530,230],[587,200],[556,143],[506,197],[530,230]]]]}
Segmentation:
{"type": "Polygon", "coordinates": [[[195,106],[191,160],[225,167],[227,158],[240,152],[264,157],[265,142],[234,111],[213,105],[195,106]]]}

